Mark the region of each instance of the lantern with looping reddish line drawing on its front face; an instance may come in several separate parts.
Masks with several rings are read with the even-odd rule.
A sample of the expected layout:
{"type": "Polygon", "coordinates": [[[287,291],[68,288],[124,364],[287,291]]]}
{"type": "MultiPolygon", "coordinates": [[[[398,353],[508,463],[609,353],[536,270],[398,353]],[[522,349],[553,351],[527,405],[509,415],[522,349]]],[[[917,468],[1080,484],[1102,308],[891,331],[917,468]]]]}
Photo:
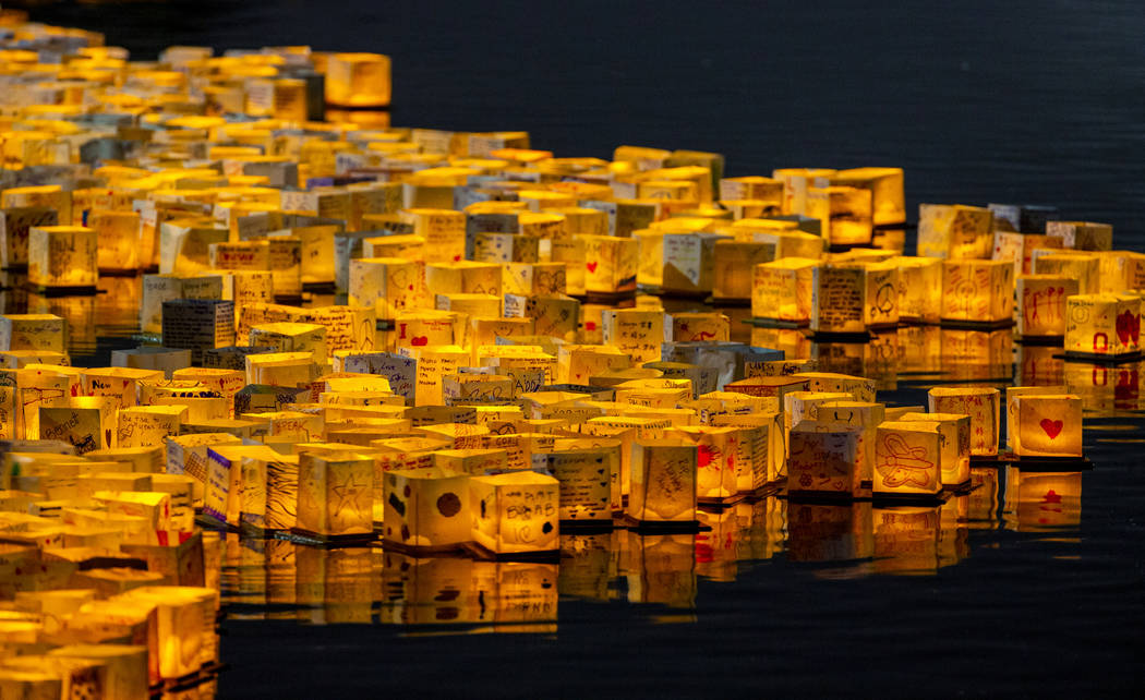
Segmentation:
{"type": "Polygon", "coordinates": [[[876,496],[934,496],[942,490],[937,424],[885,422],[875,432],[876,496]]]}

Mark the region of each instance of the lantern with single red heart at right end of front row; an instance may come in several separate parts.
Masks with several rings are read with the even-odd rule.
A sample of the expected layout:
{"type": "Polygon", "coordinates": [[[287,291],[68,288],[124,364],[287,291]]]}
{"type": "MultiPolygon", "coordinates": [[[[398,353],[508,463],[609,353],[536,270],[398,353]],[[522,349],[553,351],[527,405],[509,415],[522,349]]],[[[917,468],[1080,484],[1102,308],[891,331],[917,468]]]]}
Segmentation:
{"type": "MultiPolygon", "coordinates": [[[[1016,431],[1009,441],[1019,457],[1081,457],[1081,398],[1073,394],[1006,394],[1016,431]]],[[[1009,420],[1008,420],[1009,423],[1009,420]]]]}

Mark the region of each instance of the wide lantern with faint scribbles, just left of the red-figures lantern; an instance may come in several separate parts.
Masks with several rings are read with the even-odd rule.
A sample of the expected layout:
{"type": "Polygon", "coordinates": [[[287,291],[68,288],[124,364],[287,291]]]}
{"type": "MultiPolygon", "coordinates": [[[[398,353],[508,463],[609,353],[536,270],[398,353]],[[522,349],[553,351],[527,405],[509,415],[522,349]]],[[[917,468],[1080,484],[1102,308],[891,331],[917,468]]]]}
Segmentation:
{"type": "Polygon", "coordinates": [[[942,321],[1010,323],[1013,266],[1005,260],[948,260],[942,264],[942,321]]]}

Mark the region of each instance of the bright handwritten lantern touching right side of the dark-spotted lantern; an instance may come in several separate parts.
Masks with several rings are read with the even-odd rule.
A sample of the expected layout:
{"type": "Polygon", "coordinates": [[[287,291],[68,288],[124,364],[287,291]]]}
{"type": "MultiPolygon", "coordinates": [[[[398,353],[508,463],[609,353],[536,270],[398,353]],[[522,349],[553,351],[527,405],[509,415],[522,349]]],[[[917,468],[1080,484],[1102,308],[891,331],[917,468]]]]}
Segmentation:
{"type": "Polygon", "coordinates": [[[473,540],[497,555],[559,549],[556,479],[514,472],[469,479],[473,540]]]}

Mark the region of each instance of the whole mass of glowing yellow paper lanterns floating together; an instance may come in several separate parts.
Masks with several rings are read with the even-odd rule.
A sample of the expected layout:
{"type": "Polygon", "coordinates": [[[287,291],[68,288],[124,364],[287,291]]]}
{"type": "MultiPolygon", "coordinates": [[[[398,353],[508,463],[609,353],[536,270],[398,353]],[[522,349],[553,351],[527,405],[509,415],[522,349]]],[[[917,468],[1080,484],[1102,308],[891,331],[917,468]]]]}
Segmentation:
{"type": "Polygon", "coordinates": [[[842,509],[869,557],[879,532],[937,532],[974,461],[1083,465],[1065,387],[891,407],[875,380],[662,297],[821,337],[1017,315],[1067,354],[1139,352],[1143,257],[1108,226],[923,205],[903,257],[899,168],[726,178],[717,154],[558,158],[524,132],[325,110],[388,104],[372,54],[134,63],[14,13],[0,40],[0,262],[45,297],[142,274],[143,339],[72,367],[84,324],[0,316],[0,697],[137,698],[210,673],[204,525],[298,552],[380,543],[411,590],[468,577],[548,614],[570,533],[587,550],[652,533],[631,561],[692,572],[697,537],[779,494],[802,504],[792,551],[813,532],[797,525],[842,509]],[[315,302],[330,294],[345,302],[315,302]],[[899,504],[923,514],[882,508],[899,504]]]}

